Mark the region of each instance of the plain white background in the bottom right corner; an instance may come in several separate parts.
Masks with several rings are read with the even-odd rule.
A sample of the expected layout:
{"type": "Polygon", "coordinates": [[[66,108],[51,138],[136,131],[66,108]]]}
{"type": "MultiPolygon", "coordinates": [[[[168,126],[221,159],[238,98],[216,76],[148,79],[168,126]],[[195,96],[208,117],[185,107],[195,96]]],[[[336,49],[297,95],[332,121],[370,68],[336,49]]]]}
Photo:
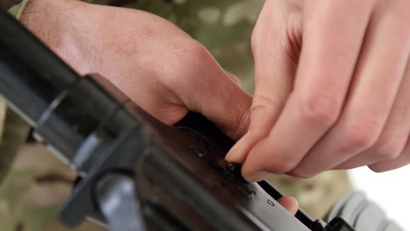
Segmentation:
{"type": "Polygon", "coordinates": [[[350,170],[356,189],[365,191],[387,216],[404,230],[410,230],[410,166],[385,173],[374,173],[367,167],[350,170]]]}

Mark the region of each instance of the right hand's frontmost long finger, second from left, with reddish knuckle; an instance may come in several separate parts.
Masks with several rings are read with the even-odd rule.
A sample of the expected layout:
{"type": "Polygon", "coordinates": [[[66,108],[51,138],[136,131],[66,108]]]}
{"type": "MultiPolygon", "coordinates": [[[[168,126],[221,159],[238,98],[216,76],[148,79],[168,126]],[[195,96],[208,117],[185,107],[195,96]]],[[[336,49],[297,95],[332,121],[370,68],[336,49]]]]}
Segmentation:
{"type": "Polygon", "coordinates": [[[306,5],[295,88],[272,132],[249,153],[247,180],[291,170],[336,122],[370,15],[366,1],[348,2],[306,5]]]}

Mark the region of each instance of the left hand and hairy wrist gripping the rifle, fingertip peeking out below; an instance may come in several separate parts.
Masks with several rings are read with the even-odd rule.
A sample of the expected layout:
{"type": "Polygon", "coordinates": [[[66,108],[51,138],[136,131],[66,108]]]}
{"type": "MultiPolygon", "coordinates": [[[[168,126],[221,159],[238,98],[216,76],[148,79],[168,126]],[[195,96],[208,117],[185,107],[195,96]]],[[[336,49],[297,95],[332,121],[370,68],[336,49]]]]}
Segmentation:
{"type": "MultiPolygon", "coordinates": [[[[252,97],[199,42],[161,17],[74,0],[31,0],[21,21],[74,70],[106,77],[167,125],[197,111],[234,140],[249,127],[252,97]]],[[[297,211],[294,198],[279,202],[297,211]]]]}

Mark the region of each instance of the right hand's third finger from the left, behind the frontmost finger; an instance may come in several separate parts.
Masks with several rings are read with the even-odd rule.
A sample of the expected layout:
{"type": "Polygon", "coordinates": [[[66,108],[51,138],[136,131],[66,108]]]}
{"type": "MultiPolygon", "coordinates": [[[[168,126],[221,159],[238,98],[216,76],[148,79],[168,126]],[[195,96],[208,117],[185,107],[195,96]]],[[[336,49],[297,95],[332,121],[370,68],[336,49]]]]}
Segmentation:
{"type": "Polygon", "coordinates": [[[372,16],[341,119],[295,168],[296,175],[334,168],[372,147],[382,133],[410,50],[410,42],[402,40],[409,29],[402,28],[400,14],[386,12],[384,8],[372,16]]]}

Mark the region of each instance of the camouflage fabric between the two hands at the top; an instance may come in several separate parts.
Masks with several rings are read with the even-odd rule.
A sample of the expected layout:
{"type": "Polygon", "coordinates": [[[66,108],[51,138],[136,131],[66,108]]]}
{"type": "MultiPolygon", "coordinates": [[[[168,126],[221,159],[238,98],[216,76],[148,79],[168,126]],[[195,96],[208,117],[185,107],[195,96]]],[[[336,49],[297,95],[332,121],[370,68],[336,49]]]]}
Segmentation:
{"type": "Polygon", "coordinates": [[[252,29],[263,0],[86,0],[111,6],[137,8],[174,22],[202,43],[224,67],[236,74],[252,93],[252,29]]]}

